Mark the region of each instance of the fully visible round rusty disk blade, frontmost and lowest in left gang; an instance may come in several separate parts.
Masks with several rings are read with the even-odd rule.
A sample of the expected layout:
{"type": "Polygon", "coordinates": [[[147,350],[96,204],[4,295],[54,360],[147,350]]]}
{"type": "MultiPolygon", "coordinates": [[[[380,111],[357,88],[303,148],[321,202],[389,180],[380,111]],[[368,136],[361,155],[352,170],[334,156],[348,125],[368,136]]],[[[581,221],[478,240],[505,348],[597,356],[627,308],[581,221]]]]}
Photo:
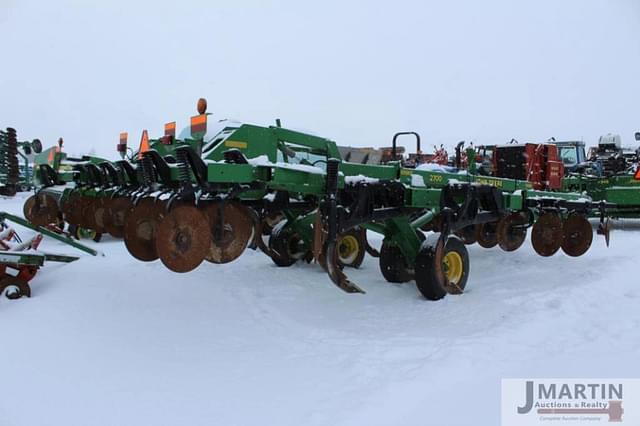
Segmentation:
{"type": "Polygon", "coordinates": [[[174,272],[189,272],[202,263],[211,247],[207,216],[193,205],[171,210],[156,230],[156,250],[174,272]]]}

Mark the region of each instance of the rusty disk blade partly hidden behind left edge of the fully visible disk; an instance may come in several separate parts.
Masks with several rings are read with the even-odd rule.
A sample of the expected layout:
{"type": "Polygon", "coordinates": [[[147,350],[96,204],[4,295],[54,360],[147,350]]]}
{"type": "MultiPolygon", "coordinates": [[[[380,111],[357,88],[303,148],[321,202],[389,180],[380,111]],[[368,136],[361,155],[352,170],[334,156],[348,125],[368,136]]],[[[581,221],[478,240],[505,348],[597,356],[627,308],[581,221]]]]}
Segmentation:
{"type": "Polygon", "coordinates": [[[164,203],[142,199],[125,218],[124,244],[133,257],[143,262],[158,258],[156,230],[164,218],[164,203]]]}

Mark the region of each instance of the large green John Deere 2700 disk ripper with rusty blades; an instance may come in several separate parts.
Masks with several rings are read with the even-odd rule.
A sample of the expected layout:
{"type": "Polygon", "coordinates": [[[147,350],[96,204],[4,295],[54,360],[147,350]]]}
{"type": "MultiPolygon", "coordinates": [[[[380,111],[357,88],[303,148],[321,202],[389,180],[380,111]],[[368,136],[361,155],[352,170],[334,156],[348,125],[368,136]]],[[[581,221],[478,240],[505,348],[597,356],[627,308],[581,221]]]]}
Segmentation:
{"type": "MultiPolygon", "coordinates": [[[[604,220],[613,207],[579,193],[535,190],[526,180],[477,175],[472,154],[468,171],[356,164],[342,161],[333,141],[279,123],[223,123],[207,132],[204,101],[198,112],[188,135],[176,138],[170,124],[160,139],[145,132],[128,160],[76,164],[59,203],[62,217],[124,237],[134,257],[160,258],[176,272],[204,260],[233,261],[254,242],[278,266],[317,261],[347,292],[363,292],[342,267],[361,262],[366,229],[384,236],[380,252],[369,251],[385,279],[415,279],[436,300],[465,288],[464,242],[513,251],[532,228],[542,256],[560,249],[580,256],[593,238],[587,215],[604,220]]],[[[119,151],[126,157],[125,135],[119,151]]],[[[58,173],[48,190],[59,191],[60,183],[58,173]]]]}

